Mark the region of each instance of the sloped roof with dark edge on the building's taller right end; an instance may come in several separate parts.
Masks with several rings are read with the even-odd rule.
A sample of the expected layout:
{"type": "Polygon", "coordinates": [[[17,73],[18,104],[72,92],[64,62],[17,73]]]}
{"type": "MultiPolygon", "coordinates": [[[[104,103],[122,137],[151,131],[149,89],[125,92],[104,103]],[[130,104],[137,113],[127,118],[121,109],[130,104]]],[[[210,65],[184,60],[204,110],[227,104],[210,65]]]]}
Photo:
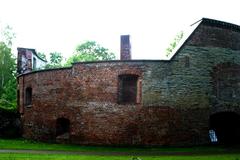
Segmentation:
{"type": "Polygon", "coordinates": [[[197,30],[197,28],[201,25],[209,25],[213,27],[219,27],[219,28],[224,28],[224,29],[229,29],[232,31],[240,32],[240,26],[224,21],[219,21],[215,19],[210,19],[210,18],[202,18],[198,20],[197,22],[193,23],[190,25],[190,29],[184,33],[183,38],[180,40],[178,45],[174,48],[172,53],[166,58],[166,60],[171,60],[173,57],[180,51],[180,49],[186,44],[186,42],[190,39],[190,37],[194,34],[194,32],[197,30]]]}

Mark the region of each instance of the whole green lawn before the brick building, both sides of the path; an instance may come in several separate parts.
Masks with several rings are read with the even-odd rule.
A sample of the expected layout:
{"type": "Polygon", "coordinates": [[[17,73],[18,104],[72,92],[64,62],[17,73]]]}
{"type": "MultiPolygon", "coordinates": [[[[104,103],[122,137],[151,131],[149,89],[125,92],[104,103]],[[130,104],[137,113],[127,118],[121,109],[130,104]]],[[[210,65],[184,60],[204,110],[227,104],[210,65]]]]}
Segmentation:
{"type": "Polygon", "coordinates": [[[0,153],[0,159],[6,160],[240,160],[239,147],[223,146],[103,147],[49,144],[25,139],[0,139],[0,149],[62,151],[59,154],[0,153]],[[68,153],[69,151],[71,154],[68,153]]]}

